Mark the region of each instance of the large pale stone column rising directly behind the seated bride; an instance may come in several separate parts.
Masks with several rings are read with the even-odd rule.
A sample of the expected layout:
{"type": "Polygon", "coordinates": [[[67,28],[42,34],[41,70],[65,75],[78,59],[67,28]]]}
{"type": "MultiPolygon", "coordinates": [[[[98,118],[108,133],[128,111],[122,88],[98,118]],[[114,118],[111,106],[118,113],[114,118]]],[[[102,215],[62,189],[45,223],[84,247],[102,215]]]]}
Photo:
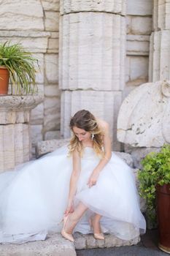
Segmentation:
{"type": "Polygon", "coordinates": [[[125,0],[62,0],[59,86],[61,135],[69,119],[87,109],[109,122],[114,150],[117,112],[122,101],[125,61],[125,0]]]}

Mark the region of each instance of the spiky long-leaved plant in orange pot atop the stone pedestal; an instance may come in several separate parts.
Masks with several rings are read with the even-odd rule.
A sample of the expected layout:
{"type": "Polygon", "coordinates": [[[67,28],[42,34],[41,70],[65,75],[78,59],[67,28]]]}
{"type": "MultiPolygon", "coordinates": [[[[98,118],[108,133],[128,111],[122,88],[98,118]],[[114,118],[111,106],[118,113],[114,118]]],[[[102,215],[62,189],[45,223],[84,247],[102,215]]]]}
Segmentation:
{"type": "Polygon", "coordinates": [[[35,63],[37,60],[20,43],[0,44],[0,94],[7,94],[9,80],[12,94],[13,91],[15,94],[36,92],[35,63]]]}

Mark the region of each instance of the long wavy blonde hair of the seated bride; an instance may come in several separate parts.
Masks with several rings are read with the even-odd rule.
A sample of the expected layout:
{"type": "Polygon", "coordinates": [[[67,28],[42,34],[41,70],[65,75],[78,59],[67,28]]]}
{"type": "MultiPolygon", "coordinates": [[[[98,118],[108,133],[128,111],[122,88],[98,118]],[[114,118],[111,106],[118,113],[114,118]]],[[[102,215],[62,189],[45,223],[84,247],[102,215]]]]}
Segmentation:
{"type": "MultiPolygon", "coordinates": [[[[85,129],[86,132],[90,132],[94,135],[93,137],[93,149],[99,157],[104,157],[104,147],[103,147],[103,135],[104,132],[98,126],[96,118],[88,110],[80,110],[74,114],[70,120],[70,129],[77,127],[80,129],[85,129]]],[[[82,142],[77,138],[73,132],[73,136],[69,143],[69,156],[72,155],[74,150],[77,150],[82,157],[83,147],[82,142]]]]}

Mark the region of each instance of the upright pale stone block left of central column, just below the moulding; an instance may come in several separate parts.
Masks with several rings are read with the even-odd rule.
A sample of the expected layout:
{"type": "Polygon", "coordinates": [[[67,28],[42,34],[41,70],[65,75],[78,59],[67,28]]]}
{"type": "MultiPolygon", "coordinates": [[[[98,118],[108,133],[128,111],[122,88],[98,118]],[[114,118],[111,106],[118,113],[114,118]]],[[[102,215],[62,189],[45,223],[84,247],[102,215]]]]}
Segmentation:
{"type": "Polygon", "coordinates": [[[58,83],[57,54],[45,54],[45,75],[48,83],[58,83]]]}

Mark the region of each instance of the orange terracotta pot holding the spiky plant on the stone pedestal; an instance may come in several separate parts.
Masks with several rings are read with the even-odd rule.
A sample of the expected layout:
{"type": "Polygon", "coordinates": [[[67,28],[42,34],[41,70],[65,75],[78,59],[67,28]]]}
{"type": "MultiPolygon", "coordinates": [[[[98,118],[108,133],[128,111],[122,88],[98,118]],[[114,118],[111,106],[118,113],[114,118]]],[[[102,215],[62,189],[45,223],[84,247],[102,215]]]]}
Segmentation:
{"type": "Polygon", "coordinates": [[[7,67],[0,66],[0,95],[7,95],[9,86],[9,71],[7,67]]]}

